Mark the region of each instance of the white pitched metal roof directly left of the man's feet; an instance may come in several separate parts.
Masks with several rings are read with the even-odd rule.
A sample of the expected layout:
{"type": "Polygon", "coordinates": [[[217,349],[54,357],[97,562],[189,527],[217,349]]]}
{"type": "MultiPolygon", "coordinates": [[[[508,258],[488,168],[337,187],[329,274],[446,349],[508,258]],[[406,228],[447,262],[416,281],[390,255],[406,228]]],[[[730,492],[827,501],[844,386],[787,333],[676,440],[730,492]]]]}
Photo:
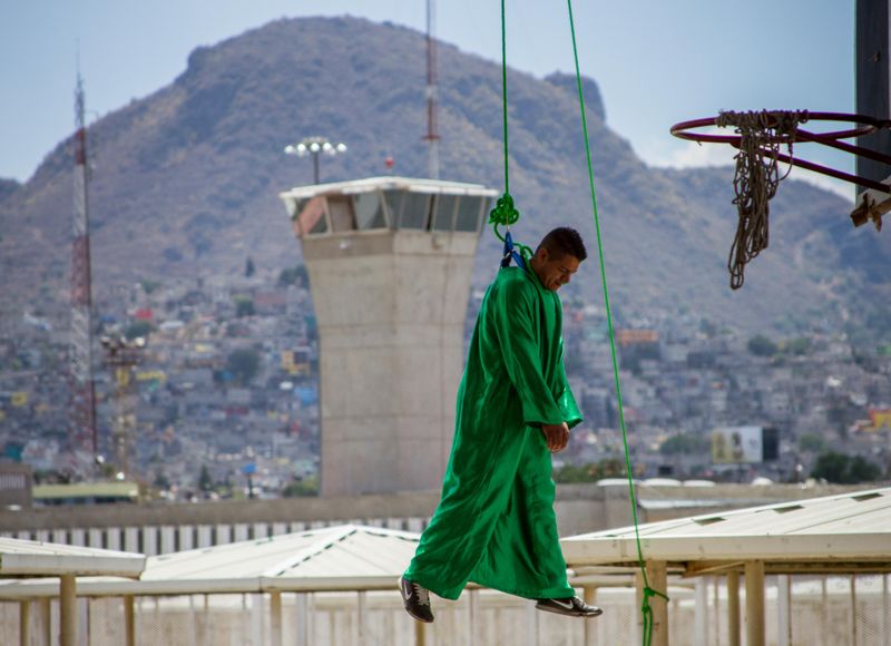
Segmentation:
{"type": "MultiPolygon", "coordinates": [[[[372,590],[395,587],[420,535],[343,525],[148,558],[140,580],[87,579],[78,594],[176,595],[372,590]]],[[[0,585],[0,598],[38,597],[57,581],[0,585]]]]}

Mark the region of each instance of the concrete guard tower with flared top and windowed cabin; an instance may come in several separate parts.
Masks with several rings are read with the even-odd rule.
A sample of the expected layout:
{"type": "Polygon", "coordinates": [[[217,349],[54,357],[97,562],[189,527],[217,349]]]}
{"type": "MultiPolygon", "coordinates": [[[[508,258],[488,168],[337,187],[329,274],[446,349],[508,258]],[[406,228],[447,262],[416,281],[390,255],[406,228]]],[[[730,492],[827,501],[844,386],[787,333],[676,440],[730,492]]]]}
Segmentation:
{"type": "Polygon", "coordinates": [[[319,323],[322,496],[441,487],[470,275],[495,196],[404,177],[281,194],[319,323]]]}

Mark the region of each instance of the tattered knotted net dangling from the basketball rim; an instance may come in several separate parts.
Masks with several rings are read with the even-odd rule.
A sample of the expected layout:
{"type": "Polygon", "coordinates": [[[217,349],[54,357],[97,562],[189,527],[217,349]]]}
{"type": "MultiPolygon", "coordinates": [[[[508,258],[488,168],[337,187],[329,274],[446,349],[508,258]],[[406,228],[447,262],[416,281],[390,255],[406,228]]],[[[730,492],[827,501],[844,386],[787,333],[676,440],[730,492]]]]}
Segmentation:
{"type": "MultiPolygon", "coordinates": [[[[731,288],[738,290],[745,282],[745,265],[767,248],[770,242],[770,200],[776,195],[780,182],[779,158],[785,146],[792,157],[792,146],[799,124],[807,121],[806,110],[723,111],[715,120],[719,128],[734,127],[740,135],[736,174],[733,178],[733,204],[740,216],[736,236],[731,247],[727,268],[731,288]]],[[[792,169],[790,165],[789,169],[792,169]]]]}

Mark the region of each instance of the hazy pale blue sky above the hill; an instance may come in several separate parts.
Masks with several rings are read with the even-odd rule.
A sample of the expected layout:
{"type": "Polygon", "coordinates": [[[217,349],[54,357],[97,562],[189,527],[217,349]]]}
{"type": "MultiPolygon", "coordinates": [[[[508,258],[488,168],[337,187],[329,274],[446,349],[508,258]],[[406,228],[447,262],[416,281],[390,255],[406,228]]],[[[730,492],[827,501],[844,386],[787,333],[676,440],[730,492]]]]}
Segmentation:
{"type": "MultiPolygon", "coordinates": [[[[724,146],[668,134],[721,109],[854,110],[854,0],[576,0],[574,11],[582,74],[649,164],[728,159],[724,146]]],[[[198,46],[282,17],[345,13],[425,26],[423,0],[0,0],[0,177],[28,179],[74,130],[78,49],[94,120],[172,82],[198,46]]],[[[511,67],[572,70],[565,1],[508,0],[508,33],[511,67]]],[[[440,0],[437,36],[500,61],[500,2],[440,0]]],[[[819,146],[797,153],[853,169],[819,146]]]]}

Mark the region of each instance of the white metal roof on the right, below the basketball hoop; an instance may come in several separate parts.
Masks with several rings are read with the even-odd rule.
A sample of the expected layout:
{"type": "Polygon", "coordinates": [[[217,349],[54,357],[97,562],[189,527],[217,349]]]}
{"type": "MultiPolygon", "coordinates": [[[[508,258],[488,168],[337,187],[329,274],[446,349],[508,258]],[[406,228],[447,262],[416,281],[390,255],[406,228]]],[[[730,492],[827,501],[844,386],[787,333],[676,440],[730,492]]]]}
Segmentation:
{"type": "MultiPolygon", "coordinates": [[[[699,567],[764,560],[776,571],[891,570],[891,488],[652,522],[639,534],[647,560],[699,567]]],[[[569,567],[637,560],[634,527],[560,544],[569,567]]]]}

